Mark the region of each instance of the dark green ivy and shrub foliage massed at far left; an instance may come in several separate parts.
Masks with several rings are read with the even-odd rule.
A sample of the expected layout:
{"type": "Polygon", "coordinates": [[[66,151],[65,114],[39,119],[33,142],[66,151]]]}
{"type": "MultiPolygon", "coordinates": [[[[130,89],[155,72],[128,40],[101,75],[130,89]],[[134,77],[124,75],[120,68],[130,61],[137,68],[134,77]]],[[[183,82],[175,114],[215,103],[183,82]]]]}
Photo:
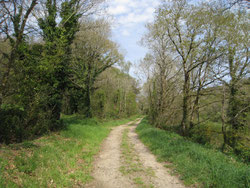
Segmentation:
{"type": "Polygon", "coordinates": [[[70,44],[78,31],[80,18],[77,4],[75,0],[65,1],[59,11],[56,1],[46,1],[47,14],[38,20],[44,44],[29,43],[29,35],[23,36],[23,7],[19,6],[18,14],[12,19],[13,38],[12,35],[7,37],[11,50],[3,55],[8,62],[7,68],[0,72],[3,75],[0,80],[3,130],[0,142],[21,142],[62,128],[60,114],[62,96],[68,84],[70,44]],[[58,15],[61,24],[57,23],[58,15]],[[5,108],[6,105],[11,109],[5,108]]]}

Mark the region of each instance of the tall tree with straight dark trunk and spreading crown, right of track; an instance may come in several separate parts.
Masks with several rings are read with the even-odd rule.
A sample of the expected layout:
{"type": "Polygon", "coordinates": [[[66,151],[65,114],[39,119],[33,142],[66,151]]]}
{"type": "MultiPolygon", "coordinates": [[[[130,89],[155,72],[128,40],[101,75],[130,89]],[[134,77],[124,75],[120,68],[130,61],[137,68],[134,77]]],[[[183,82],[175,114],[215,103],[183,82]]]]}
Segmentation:
{"type": "Polygon", "coordinates": [[[156,23],[164,27],[169,39],[167,45],[171,48],[173,57],[180,62],[183,74],[181,122],[183,135],[188,135],[192,127],[190,119],[192,74],[197,68],[211,64],[220,57],[220,54],[215,53],[219,51],[220,44],[220,41],[216,40],[219,22],[215,22],[213,16],[213,11],[206,4],[192,6],[185,0],[178,0],[164,3],[156,17],[156,23]]]}

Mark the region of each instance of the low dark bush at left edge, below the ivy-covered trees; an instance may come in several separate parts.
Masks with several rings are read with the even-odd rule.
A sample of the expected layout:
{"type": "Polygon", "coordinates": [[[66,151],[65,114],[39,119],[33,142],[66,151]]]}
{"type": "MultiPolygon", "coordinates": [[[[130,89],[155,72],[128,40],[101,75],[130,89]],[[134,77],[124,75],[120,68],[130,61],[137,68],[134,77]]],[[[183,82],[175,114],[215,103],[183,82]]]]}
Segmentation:
{"type": "Polygon", "coordinates": [[[22,142],[64,128],[62,120],[55,120],[51,114],[51,110],[44,111],[38,105],[27,109],[18,105],[2,105],[0,143],[22,142]]]}

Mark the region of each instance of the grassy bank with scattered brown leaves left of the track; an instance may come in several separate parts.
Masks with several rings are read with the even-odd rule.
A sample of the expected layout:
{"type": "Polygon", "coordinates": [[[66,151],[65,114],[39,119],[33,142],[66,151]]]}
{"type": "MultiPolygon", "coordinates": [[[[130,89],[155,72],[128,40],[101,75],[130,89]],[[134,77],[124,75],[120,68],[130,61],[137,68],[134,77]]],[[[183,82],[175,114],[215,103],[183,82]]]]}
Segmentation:
{"type": "Polygon", "coordinates": [[[66,129],[0,147],[0,187],[82,187],[91,180],[94,155],[111,127],[136,117],[99,122],[65,116],[66,129]]]}

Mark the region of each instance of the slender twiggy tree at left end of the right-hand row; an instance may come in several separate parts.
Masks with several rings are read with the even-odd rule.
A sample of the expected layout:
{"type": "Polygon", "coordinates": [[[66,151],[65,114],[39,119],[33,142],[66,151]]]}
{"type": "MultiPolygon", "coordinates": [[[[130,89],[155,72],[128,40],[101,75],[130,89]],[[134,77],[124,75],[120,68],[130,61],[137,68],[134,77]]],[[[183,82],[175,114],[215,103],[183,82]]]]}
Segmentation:
{"type": "MultiPolygon", "coordinates": [[[[172,119],[175,114],[173,110],[176,96],[179,94],[178,83],[180,84],[180,70],[174,58],[171,56],[168,43],[169,38],[165,32],[165,26],[154,23],[148,24],[148,34],[145,35],[142,43],[150,49],[150,55],[147,55],[142,62],[153,66],[153,77],[148,84],[152,85],[148,92],[155,104],[151,104],[151,121],[158,127],[163,126],[172,119]],[[150,83],[151,82],[151,83],[150,83]],[[153,115],[155,114],[155,115],[153,115]]],[[[151,101],[152,103],[152,101],[151,101]]]]}

